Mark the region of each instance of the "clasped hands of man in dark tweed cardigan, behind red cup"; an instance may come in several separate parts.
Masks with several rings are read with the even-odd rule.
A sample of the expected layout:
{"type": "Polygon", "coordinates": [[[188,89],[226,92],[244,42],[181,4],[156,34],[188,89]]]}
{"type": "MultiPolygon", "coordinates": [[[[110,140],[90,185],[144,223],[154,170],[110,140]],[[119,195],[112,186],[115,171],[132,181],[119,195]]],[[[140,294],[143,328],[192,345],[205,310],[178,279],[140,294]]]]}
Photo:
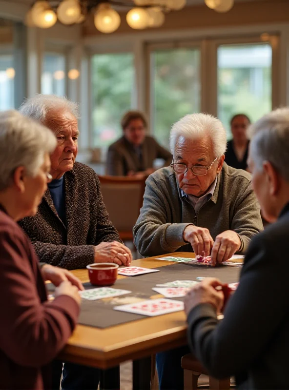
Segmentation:
{"type": "Polygon", "coordinates": [[[95,263],[116,263],[129,266],[132,261],[130,250],[120,242],[102,242],[95,247],[95,263]]]}

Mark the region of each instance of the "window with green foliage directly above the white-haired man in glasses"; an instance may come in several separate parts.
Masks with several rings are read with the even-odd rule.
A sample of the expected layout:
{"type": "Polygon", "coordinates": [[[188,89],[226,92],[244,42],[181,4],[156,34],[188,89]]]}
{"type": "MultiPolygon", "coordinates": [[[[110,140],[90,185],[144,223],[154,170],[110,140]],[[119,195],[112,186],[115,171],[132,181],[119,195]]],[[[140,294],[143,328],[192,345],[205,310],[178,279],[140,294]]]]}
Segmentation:
{"type": "Polygon", "coordinates": [[[150,69],[152,132],[168,147],[171,125],[186,114],[200,111],[200,50],[186,47],[152,51],[150,69]]]}

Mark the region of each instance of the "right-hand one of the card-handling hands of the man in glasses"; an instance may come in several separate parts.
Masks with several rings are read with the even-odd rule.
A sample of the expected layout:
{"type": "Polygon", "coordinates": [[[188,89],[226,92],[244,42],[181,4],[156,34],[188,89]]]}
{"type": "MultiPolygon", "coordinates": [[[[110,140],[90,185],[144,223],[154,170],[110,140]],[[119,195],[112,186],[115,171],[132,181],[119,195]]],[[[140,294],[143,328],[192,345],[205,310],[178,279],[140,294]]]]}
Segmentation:
{"type": "Polygon", "coordinates": [[[218,234],[211,252],[211,263],[213,265],[221,264],[226,261],[241,247],[239,235],[232,230],[218,234]]]}

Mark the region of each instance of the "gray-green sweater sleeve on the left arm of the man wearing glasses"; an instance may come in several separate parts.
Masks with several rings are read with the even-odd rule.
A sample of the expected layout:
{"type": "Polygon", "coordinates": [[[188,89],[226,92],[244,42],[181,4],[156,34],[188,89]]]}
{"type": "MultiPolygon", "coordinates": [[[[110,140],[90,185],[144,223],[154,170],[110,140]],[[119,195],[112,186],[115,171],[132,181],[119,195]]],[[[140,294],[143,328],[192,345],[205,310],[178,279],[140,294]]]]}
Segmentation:
{"type": "Polygon", "coordinates": [[[190,223],[168,223],[165,189],[153,176],[146,180],[143,207],[133,228],[134,243],[143,256],[175,252],[185,245],[183,233],[190,223]]]}

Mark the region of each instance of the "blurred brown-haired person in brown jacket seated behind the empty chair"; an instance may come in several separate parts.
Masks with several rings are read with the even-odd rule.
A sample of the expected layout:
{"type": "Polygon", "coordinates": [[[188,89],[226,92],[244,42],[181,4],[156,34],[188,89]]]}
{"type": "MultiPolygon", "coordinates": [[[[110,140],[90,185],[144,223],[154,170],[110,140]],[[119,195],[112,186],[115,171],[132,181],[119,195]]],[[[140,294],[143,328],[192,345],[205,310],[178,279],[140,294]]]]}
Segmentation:
{"type": "Polygon", "coordinates": [[[108,148],[106,174],[110,176],[144,177],[152,174],[156,158],[165,160],[172,156],[153,137],[146,135],[147,120],[140,111],[128,111],[122,118],[123,137],[108,148]]]}

